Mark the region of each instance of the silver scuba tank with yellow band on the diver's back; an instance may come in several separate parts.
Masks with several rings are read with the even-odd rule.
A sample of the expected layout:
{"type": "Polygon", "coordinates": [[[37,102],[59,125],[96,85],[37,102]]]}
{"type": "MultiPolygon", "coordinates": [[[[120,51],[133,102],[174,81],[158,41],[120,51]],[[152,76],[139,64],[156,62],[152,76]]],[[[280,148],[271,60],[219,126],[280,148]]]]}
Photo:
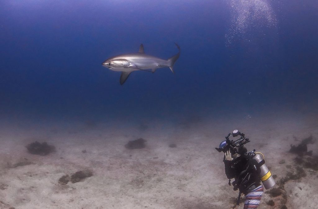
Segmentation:
{"type": "Polygon", "coordinates": [[[259,178],[262,181],[265,189],[270,189],[276,184],[276,182],[275,182],[271,172],[269,171],[269,169],[267,168],[267,166],[265,164],[264,155],[260,152],[254,153],[254,151],[255,150],[252,151],[252,153],[254,155],[252,157],[252,159],[255,159],[260,166],[259,178]]]}

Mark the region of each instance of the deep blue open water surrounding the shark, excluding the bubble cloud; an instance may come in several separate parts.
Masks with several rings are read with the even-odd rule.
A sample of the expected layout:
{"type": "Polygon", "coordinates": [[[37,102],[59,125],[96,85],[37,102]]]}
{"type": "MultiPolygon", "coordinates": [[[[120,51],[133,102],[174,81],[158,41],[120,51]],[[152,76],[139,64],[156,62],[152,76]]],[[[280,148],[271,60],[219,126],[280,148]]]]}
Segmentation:
{"type": "Polygon", "coordinates": [[[276,27],[248,30],[249,41],[238,36],[226,46],[227,1],[1,1],[0,115],[169,120],[316,111],[318,3],[270,4],[276,27]],[[175,74],[134,72],[121,86],[120,73],[101,66],[140,43],[168,59],[174,42],[175,74]]]}

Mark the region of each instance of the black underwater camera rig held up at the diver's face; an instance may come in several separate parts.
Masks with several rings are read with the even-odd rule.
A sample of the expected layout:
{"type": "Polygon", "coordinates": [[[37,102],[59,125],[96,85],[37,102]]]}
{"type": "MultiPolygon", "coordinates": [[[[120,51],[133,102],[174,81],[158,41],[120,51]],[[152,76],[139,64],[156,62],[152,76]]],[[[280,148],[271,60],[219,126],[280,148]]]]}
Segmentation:
{"type": "MultiPolygon", "coordinates": [[[[226,139],[226,145],[223,148],[216,147],[215,149],[218,150],[218,152],[226,152],[228,150],[231,150],[231,152],[236,153],[237,150],[235,149],[237,146],[242,146],[250,140],[248,138],[245,138],[245,134],[239,132],[238,130],[234,130],[232,133],[229,133],[227,136],[225,136],[226,139]],[[230,140],[230,136],[236,137],[241,136],[238,140],[230,140]]],[[[233,154],[233,153],[232,153],[233,154]]]]}

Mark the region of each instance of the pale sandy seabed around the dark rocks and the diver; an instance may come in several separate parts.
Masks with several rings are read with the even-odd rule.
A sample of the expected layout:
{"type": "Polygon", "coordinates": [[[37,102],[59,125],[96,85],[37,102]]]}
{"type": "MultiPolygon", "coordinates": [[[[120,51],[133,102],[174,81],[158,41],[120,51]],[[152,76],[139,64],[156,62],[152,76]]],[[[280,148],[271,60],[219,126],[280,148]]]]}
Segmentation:
{"type": "MultiPolygon", "coordinates": [[[[1,122],[0,208],[243,208],[242,203],[235,206],[238,192],[228,185],[223,154],[215,150],[233,129],[251,140],[246,144],[249,151],[264,153],[276,175],[277,185],[264,192],[259,209],[316,208],[318,171],[294,160],[309,156],[288,151],[290,144],[318,137],[317,118],[263,118],[244,125],[220,120],[137,125],[1,122]],[[125,148],[137,138],[146,140],[145,148],[125,148]],[[56,152],[32,155],[25,145],[34,141],[52,144],[56,152]],[[169,147],[172,143],[176,147],[169,147]],[[33,164],[13,166],[26,161],[33,164]],[[58,183],[63,175],[86,169],[93,176],[58,183]]],[[[318,155],[317,143],[308,144],[312,157],[318,155]]]]}

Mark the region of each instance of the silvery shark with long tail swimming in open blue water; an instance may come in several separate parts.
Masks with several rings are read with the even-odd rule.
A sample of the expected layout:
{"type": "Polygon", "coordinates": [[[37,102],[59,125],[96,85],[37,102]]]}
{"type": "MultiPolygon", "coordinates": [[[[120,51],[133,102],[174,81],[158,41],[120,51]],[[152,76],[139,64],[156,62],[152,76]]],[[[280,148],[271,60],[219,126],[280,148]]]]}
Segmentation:
{"type": "Polygon", "coordinates": [[[141,44],[139,52],[111,57],[106,59],[102,65],[110,70],[121,72],[121,85],[124,84],[130,73],[137,70],[150,71],[154,73],[158,68],[169,67],[172,73],[174,73],[173,65],[180,55],[180,47],[177,44],[176,46],[178,47],[179,52],[167,60],[145,54],[143,45],[141,44]]]}

